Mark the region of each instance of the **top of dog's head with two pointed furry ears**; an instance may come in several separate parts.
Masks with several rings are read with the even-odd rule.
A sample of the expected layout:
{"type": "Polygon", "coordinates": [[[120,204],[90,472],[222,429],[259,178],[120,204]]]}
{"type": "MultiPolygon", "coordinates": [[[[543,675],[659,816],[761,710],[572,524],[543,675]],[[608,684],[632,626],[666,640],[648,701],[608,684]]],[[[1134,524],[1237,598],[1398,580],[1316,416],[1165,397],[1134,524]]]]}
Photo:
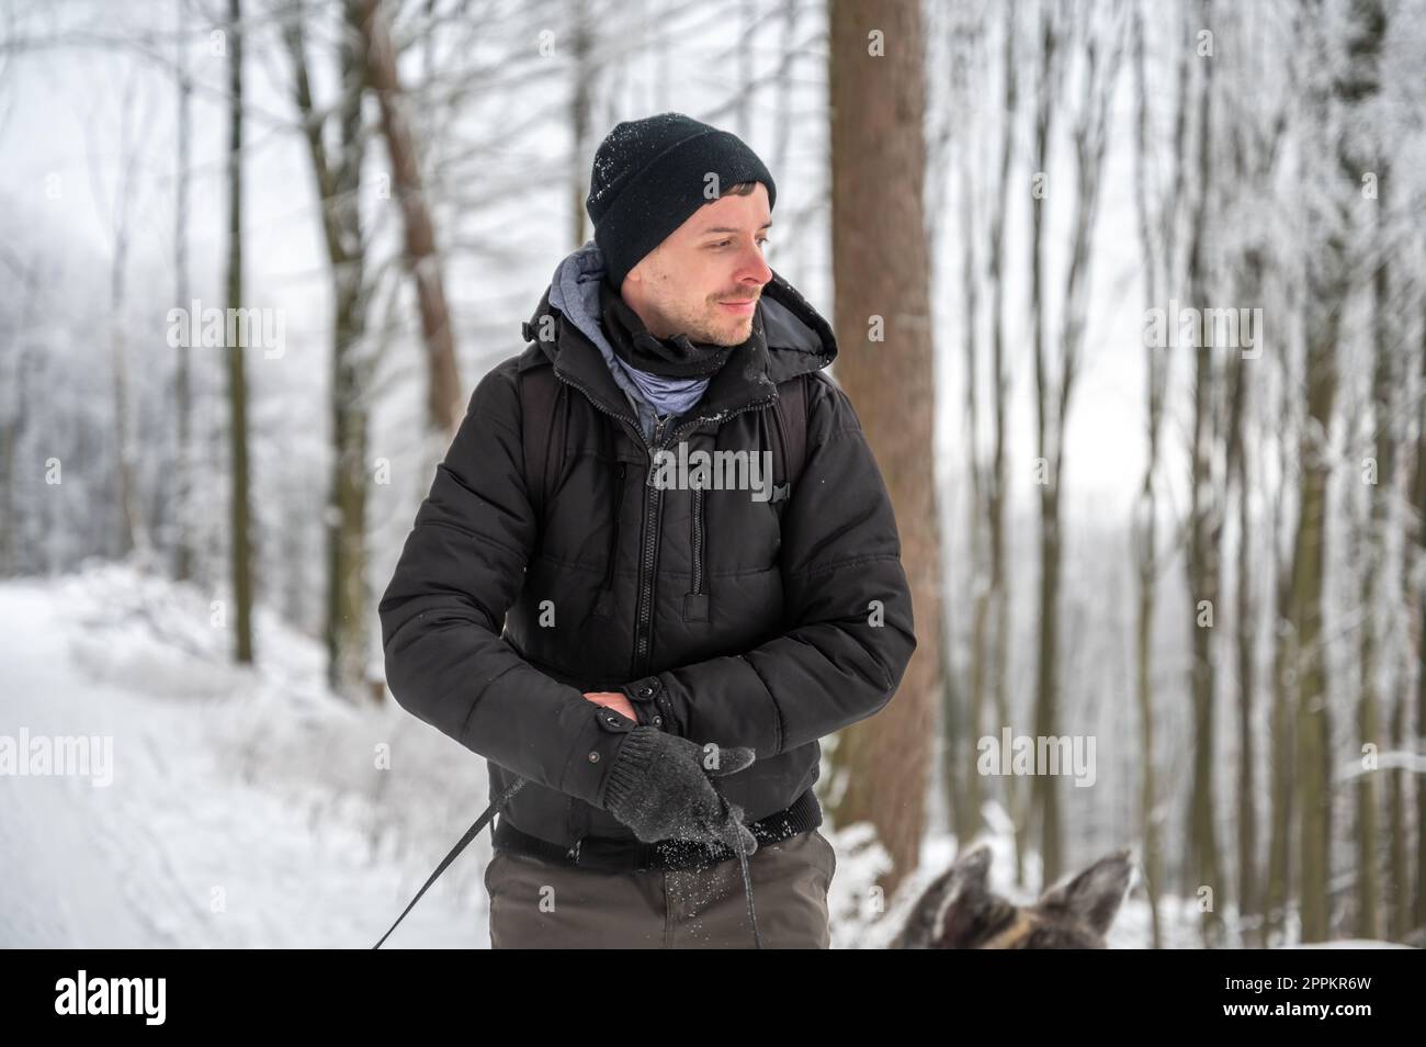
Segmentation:
{"type": "Polygon", "coordinates": [[[988,873],[988,846],[958,856],[917,899],[888,949],[1105,949],[1134,866],[1128,849],[1114,852],[1032,906],[992,893],[988,873]]]}

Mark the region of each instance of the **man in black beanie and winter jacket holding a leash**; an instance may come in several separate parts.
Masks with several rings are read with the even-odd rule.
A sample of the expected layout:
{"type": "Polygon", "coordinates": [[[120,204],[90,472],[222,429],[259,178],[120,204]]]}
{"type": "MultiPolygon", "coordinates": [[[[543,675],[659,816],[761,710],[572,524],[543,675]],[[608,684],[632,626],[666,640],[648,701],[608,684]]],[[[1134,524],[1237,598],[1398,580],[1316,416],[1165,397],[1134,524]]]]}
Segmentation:
{"type": "Polygon", "coordinates": [[[595,237],[478,384],[381,601],[396,700],[486,757],[492,797],[523,780],[493,947],[830,943],[819,739],[891,699],[915,636],[831,328],[763,260],[776,193],[682,114],[609,134],[595,237]],[[525,418],[539,379],[553,409],[525,418]],[[662,468],[714,451],[742,484],[662,468]]]}

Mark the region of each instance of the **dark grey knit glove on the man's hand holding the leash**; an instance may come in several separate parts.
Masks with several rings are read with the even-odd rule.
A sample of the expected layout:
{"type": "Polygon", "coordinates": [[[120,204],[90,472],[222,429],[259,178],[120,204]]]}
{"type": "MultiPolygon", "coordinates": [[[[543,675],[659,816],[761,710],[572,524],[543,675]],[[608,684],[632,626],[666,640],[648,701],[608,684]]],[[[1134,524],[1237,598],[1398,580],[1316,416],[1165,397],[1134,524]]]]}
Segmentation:
{"type": "Polygon", "coordinates": [[[734,775],[754,757],[746,746],[704,752],[657,727],[635,727],[609,769],[605,809],[645,843],[697,840],[752,854],[757,837],[743,824],[742,807],[730,803],[724,809],[709,779],[734,775]],[[709,766],[714,760],[716,766],[709,766]]]}

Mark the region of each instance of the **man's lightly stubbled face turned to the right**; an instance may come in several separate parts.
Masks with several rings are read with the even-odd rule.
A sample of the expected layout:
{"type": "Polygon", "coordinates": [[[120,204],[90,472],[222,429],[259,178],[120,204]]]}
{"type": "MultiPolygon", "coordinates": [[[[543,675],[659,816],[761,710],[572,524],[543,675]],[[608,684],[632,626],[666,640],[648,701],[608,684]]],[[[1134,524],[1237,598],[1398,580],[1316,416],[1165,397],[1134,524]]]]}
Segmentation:
{"type": "Polygon", "coordinates": [[[771,225],[767,187],[726,194],[694,211],[625,277],[620,294],[656,338],[737,345],[773,271],[763,261],[771,225]]]}

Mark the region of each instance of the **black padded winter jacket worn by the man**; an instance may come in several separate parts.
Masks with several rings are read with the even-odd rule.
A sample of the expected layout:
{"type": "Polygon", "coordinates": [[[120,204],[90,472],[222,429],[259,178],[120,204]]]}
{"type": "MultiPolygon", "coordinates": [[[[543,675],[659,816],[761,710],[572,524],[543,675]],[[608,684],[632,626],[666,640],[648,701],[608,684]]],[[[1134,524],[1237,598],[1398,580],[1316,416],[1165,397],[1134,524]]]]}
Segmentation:
{"type": "Polygon", "coordinates": [[[640,723],[700,745],[752,746],[719,787],[754,820],[816,805],[819,739],[886,706],[915,648],[886,485],[823,372],[831,328],[776,272],[754,322],[766,348],[734,354],[653,444],[763,461],[777,387],[806,372],[789,498],[652,485],[629,399],[546,288],[532,344],[476,385],[381,599],[395,699],[486,757],[492,797],[525,777],[502,823],[572,854],[635,840],[603,806],[635,725],[583,692],[622,690],[640,723]],[[572,394],[543,526],[522,469],[518,375],[535,367],[572,394]]]}

